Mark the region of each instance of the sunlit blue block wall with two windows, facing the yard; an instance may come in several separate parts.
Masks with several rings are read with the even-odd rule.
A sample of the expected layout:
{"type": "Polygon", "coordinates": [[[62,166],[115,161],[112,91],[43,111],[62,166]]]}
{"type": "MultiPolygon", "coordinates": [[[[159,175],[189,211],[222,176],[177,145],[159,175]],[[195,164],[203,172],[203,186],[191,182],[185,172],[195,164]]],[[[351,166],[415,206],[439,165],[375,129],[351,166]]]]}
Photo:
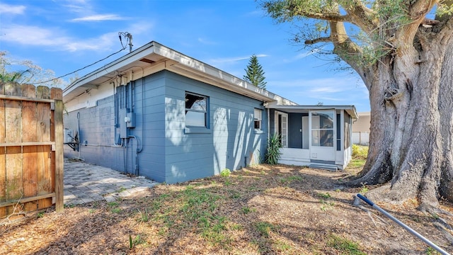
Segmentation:
{"type": "Polygon", "coordinates": [[[167,183],[241,169],[263,156],[267,130],[256,134],[253,125],[254,108],[260,108],[266,128],[263,102],[171,72],[166,77],[167,183]],[[209,98],[209,132],[185,133],[186,91],[209,98]]]}

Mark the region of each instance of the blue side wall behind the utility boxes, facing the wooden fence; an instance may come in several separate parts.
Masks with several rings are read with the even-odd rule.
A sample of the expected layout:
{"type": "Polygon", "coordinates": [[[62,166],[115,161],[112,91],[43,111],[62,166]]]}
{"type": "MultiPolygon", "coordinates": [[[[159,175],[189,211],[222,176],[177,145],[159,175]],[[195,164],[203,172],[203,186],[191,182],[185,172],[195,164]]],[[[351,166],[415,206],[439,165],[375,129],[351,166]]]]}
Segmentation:
{"type": "MultiPolygon", "coordinates": [[[[133,91],[133,96],[127,98],[127,108],[134,111],[137,118],[136,127],[130,129],[130,135],[137,137],[142,147],[138,161],[136,139],[128,139],[125,147],[114,145],[115,129],[117,134],[120,133],[119,128],[115,128],[114,96],[99,100],[96,107],[69,113],[64,118],[64,127],[77,130],[76,116],[79,113],[82,143],[80,157],[86,162],[147,176],[156,181],[165,181],[164,73],[134,81],[133,84],[127,85],[127,89],[133,91]],[[83,145],[84,141],[87,141],[86,146],[83,145]]],[[[65,146],[64,155],[74,158],[79,157],[79,152],[65,146]]]]}

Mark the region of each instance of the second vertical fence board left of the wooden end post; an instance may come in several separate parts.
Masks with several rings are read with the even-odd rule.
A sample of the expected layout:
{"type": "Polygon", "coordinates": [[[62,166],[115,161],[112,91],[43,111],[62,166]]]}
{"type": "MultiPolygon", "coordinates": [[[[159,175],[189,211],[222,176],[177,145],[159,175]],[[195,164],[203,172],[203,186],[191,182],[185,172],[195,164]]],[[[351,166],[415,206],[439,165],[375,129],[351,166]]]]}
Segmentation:
{"type": "MultiPolygon", "coordinates": [[[[35,86],[23,84],[22,96],[35,98],[35,86]]],[[[37,104],[32,101],[22,102],[22,142],[34,142],[38,139],[37,133],[38,114],[37,104]]],[[[23,197],[29,198],[38,195],[38,150],[35,146],[25,146],[23,152],[23,197]]],[[[38,209],[36,201],[24,204],[25,211],[38,209]]]]}

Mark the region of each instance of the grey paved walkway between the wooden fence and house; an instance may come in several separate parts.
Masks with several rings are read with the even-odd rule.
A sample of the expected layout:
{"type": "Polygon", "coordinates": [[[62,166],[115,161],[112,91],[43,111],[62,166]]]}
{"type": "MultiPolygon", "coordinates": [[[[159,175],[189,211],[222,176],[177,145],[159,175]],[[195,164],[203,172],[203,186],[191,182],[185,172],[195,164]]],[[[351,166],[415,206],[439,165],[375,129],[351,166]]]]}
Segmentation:
{"type": "Polygon", "coordinates": [[[112,202],[117,198],[146,191],[157,183],[143,176],[130,177],[119,171],[73,159],[64,159],[64,204],[93,201],[112,202]]]}

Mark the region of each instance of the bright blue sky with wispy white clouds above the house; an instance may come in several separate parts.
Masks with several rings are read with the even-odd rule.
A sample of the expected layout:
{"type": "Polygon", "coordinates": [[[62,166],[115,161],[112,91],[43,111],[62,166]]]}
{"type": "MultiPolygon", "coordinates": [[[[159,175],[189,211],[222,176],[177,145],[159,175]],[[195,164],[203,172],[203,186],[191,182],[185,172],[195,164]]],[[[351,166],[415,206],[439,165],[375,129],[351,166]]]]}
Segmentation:
{"type": "Polygon", "coordinates": [[[52,69],[57,77],[120,50],[118,32],[132,34],[134,49],[155,40],[239,78],[256,54],[269,91],[302,105],[353,104],[369,111],[367,89],[357,75],[338,72],[292,45],[294,28],[276,24],[252,0],[0,1],[0,50],[52,69]]]}

